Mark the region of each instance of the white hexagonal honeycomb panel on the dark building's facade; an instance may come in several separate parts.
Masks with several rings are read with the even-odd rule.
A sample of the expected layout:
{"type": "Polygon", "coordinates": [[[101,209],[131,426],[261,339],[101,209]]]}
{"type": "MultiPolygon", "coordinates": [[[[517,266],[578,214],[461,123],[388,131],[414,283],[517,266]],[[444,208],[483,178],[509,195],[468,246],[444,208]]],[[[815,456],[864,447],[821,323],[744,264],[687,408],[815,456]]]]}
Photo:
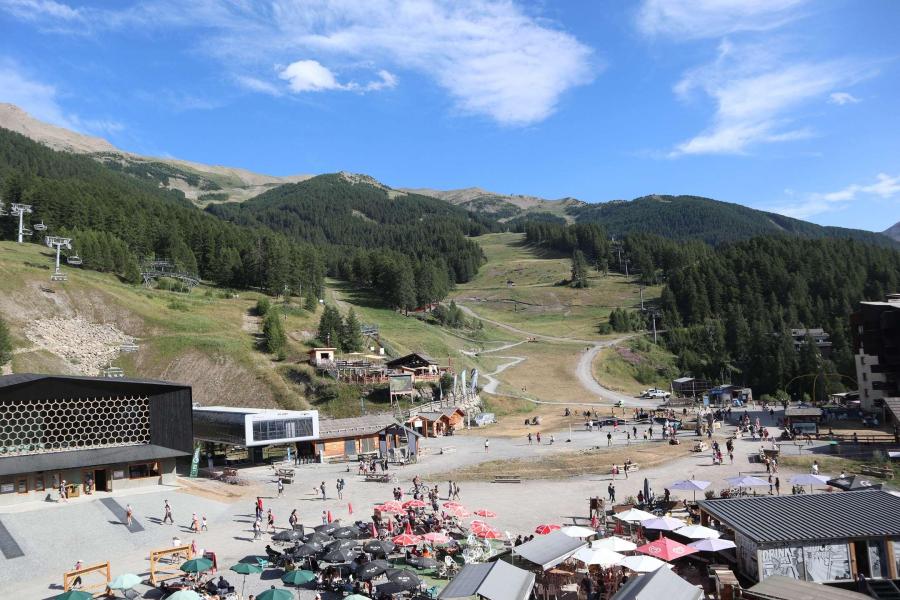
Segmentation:
{"type": "Polygon", "coordinates": [[[0,456],[149,443],[149,398],[0,404],[0,456]]]}

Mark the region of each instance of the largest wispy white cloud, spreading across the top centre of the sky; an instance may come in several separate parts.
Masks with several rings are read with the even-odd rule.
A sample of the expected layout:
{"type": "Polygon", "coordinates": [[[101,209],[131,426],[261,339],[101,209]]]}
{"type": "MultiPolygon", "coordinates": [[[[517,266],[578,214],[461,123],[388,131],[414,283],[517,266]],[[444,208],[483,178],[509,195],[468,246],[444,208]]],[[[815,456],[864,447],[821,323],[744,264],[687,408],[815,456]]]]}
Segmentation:
{"type": "Polygon", "coordinates": [[[601,68],[588,46],[513,0],[145,0],[79,10],[94,29],[196,28],[200,47],[245,89],[272,94],[275,84],[260,74],[298,57],[319,68],[288,74],[297,92],[384,90],[409,70],[461,111],[507,125],[546,119],[601,68]],[[341,83],[335,72],[371,81],[341,83]]]}

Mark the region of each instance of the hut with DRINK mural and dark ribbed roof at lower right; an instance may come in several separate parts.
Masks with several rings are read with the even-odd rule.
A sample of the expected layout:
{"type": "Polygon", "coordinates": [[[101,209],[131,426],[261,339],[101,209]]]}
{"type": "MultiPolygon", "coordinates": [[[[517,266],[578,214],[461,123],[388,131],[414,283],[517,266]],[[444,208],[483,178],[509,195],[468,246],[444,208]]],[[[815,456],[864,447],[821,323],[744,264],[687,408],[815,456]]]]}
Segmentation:
{"type": "Polygon", "coordinates": [[[701,500],[700,520],[737,545],[738,572],[867,585],[900,577],[900,497],[873,490],[701,500]],[[873,583],[874,582],[874,583],[873,583]]]}

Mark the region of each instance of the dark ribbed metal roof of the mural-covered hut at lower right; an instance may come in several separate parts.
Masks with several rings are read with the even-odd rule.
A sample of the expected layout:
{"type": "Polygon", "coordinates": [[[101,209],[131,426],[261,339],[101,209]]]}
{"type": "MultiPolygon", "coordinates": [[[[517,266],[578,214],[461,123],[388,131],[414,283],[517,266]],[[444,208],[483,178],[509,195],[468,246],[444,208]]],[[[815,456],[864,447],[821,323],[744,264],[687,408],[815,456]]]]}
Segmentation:
{"type": "Polygon", "coordinates": [[[701,500],[700,508],[758,543],[900,536],[900,497],[880,490],[701,500]]]}

